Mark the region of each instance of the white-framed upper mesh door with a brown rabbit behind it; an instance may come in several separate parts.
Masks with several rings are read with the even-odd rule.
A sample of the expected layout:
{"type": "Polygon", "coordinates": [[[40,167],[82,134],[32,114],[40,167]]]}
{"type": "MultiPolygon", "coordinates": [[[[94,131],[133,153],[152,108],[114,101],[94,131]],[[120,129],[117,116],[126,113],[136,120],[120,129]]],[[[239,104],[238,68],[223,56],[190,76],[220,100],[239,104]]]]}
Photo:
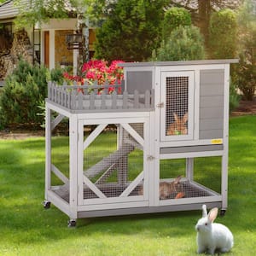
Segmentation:
{"type": "Polygon", "coordinates": [[[194,73],[161,74],[161,140],[183,140],[193,137],[194,73]]]}

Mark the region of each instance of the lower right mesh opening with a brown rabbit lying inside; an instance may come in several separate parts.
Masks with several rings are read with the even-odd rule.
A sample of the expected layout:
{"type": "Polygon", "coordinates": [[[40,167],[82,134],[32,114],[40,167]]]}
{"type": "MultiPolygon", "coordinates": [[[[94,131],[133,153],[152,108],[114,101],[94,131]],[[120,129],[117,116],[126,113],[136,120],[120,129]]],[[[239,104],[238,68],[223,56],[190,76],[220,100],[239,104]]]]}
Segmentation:
{"type": "Polygon", "coordinates": [[[160,160],[160,200],[221,193],[221,157],[160,160]]]}

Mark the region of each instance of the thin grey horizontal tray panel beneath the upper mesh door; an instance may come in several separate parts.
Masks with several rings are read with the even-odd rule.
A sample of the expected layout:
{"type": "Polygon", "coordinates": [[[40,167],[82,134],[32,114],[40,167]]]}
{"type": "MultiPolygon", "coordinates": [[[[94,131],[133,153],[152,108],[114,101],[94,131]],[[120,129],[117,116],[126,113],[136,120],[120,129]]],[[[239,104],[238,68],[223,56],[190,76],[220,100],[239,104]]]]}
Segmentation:
{"type": "Polygon", "coordinates": [[[160,154],[189,153],[223,150],[223,145],[199,145],[189,147],[160,148],[160,154]]]}

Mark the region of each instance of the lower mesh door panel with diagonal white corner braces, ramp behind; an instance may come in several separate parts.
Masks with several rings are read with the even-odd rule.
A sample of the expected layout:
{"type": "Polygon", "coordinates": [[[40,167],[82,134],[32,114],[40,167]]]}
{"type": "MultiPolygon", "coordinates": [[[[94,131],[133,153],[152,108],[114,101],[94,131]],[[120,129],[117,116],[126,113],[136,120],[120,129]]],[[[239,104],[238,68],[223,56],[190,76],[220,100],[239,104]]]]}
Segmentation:
{"type": "Polygon", "coordinates": [[[143,198],[143,123],[84,125],[83,204],[143,198]]]}

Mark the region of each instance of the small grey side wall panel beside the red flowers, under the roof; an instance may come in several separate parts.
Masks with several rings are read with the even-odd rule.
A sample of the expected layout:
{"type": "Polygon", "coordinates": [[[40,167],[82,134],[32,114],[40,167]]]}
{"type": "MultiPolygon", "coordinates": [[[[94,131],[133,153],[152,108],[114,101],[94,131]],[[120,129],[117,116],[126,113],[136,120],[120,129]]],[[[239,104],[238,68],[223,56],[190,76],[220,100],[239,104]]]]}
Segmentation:
{"type": "Polygon", "coordinates": [[[152,71],[128,71],[126,73],[126,90],[133,94],[134,90],[145,93],[152,89],[152,71]]]}

